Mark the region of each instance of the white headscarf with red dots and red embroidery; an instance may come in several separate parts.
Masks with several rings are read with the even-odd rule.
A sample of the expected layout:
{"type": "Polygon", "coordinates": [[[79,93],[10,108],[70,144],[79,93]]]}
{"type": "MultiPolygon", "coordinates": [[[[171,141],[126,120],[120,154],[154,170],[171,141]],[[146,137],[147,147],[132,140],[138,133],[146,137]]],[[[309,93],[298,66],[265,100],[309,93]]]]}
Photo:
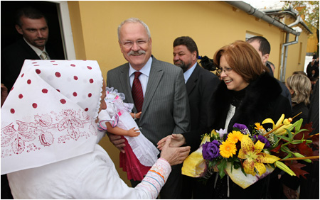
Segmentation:
{"type": "Polygon", "coordinates": [[[102,74],[92,60],[26,60],[1,108],[1,174],[92,152],[102,74]]]}

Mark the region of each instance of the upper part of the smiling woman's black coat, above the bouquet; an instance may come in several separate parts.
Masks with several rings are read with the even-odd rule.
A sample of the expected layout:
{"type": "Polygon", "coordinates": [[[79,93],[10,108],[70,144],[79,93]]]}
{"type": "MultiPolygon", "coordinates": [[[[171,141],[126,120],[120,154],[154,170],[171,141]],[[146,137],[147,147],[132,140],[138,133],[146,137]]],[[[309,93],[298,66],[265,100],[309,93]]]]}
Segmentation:
{"type": "Polygon", "coordinates": [[[260,75],[242,91],[231,91],[221,82],[210,103],[213,121],[209,126],[216,130],[225,128],[225,119],[233,101],[238,101],[238,106],[229,123],[228,132],[233,130],[234,123],[245,124],[250,128],[250,125],[261,123],[265,118],[272,118],[277,123],[282,113],[285,118],[289,118],[292,116],[291,105],[281,92],[277,79],[268,73],[260,75]]]}

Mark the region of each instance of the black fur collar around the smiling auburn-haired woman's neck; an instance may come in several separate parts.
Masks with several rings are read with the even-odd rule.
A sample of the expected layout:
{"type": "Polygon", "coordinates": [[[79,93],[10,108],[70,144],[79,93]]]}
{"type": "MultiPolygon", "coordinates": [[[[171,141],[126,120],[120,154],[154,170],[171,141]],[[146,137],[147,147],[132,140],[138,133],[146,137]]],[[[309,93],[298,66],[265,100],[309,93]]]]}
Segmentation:
{"type": "MultiPolygon", "coordinates": [[[[282,88],[274,77],[270,74],[261,74],[255,81],[251,82],[245,89],[245,94],[238,104],[235,116],[233,116],[230,125],[242,123],[253,125],[255,122],[261,122],[265,119],[272,109],[270,101],[274,101],[281,94],[282,88]]],[[[235,99],[235,92],[228,90],[224,82],[218,85],[215,92],[215,98],[211,102],[213,111],[213,128],[224,128],[225,118],[227,117],[230,104],[235,99]]],[[[228,131],[232,127],[228,128],[228,131]]]]}

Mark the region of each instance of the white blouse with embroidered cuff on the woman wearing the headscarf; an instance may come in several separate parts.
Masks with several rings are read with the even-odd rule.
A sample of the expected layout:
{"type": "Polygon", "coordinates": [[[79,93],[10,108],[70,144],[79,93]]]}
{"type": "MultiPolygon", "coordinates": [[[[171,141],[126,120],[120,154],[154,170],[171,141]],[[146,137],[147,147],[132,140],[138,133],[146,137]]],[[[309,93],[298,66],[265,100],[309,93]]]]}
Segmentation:
{"type": "Polygon", "coordinates": [[[14,199],[156,199],[171,172],[160,158],[142,183],[128,187],[107,152],[94,152],[8,174],[14,199]]]}

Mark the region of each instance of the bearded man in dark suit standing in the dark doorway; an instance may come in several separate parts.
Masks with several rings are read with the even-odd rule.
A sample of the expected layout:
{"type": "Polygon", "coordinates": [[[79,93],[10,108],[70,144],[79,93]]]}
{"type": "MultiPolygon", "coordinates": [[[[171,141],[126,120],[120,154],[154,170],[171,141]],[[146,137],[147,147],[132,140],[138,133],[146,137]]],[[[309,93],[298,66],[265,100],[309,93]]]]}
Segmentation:
{"type": "Polygon", "coordinates": [[[1,50],[1,83],[10,91],[21,71],[24,60],[55,59],[46,49],[49,28],[45,16],[32,7],[16,13],[16,30],[23,37],[1,50]]]}

